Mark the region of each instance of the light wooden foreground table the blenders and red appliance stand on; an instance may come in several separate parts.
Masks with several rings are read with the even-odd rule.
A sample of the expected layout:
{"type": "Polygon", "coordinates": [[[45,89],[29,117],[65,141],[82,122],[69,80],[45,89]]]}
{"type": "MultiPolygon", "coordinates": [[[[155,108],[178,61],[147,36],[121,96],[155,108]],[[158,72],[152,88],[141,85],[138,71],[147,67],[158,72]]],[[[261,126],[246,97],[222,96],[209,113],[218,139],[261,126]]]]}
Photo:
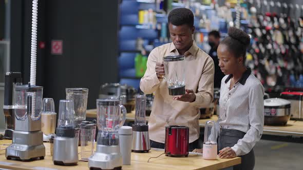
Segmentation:
{"type": "MultiPolygon", "coordinates": [[[[10,144],[11,140],[0,140],[1,151],[0,151],[0,168],[6,169],[44,169],[44,170],[55,170],[55,169],[73,169],[82,170],[88,169],[87,162],[79,161],[77,166],[58,166],[52,162],[52,156],[50,155],[49,143],[44,143],[46,147],[46,157],[44,160],[37,160],[32,162],[22,162],[16,160],[7,160],[5,158],[5,150],[2,150],[6,146],[3,144],[10,144]]],[[[80,151],[80,147],[79,147],[80,151]]],[[[174,158],[161,155],[158,158],[151,158],[149,162],[147,160],[150,157],[157,157],[163,154],[163,150],[156,151],[150,150],[149,153],[131,153],[131,165],[123,165],[122,169],[221,169],[237,165],[241,162],[241,158],[233,159],[220,159],[217,160],[204,160],[201,155],[190,154],[187,158],[174,158]]],[[[80,155],[79,155],[80,158],[80,155]]]]}

